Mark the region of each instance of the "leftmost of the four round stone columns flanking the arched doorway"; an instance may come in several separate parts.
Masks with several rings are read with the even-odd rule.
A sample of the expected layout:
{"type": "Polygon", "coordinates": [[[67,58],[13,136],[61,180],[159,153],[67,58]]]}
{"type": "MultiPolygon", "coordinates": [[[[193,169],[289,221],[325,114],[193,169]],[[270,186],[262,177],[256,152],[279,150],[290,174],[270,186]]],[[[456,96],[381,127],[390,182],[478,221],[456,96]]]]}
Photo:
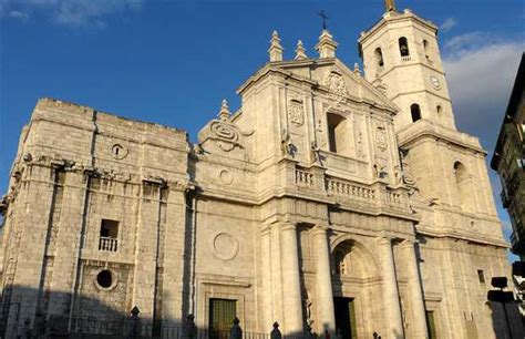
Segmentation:
{"type": "Polygon", "coordinates": [[[299,277],[299,253],[295,224],[284,224],[282,237],[282,299],[286,333],[302,333],[301,282],[299,277]]]}

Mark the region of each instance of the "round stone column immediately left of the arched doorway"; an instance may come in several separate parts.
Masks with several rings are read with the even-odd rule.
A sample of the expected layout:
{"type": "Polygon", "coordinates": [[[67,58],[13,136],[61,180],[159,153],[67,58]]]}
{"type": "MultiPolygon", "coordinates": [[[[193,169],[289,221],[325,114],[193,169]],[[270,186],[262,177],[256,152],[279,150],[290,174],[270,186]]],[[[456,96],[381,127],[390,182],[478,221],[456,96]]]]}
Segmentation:
{"type": "Polygon", "coordinates": [[[326,226],[313,228],[313,242],[316,246],[316,285],[317,285],[317,309],[318,323],[325,332],[336,330],[336,316],[333,310],[332,279],[330,271],[330,249],[328,246],[326,226]]]}

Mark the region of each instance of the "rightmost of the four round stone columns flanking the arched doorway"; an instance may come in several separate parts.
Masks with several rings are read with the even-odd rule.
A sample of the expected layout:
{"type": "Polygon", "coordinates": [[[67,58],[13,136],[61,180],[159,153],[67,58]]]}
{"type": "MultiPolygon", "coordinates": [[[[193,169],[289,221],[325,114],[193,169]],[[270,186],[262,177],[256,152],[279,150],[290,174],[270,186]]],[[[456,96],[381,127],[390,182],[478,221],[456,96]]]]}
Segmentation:
{"type": "Polygon", "coordinates": [[[418,268],[418,258],[415,256],[415,243],[405,240],[402,244],[402,250],[405,256],[405,268],[409,278],[409,296],[412,312],[412,336],[414,338],[429,338],[426,329],[426,314],[423,300],[423,290],[421,288],[420,274],[418,268]]]}

